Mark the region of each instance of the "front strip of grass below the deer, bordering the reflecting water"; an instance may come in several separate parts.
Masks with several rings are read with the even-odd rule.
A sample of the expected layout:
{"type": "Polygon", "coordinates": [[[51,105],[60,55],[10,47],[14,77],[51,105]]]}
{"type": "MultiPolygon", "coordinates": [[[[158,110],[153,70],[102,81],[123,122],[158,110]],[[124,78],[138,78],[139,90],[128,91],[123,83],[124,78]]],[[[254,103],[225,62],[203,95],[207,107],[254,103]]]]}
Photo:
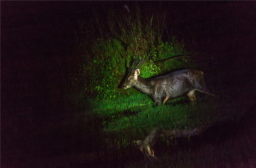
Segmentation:
{"type": "Polygon", "coordinates": [[[215,121],[214,116],[216,114],[214,113],[215,109],[206,105],[206,103],[201,103],[193,106],[191,103],[187,103],[150,106],[137,114],[122,116],[113,120],[104,128],[104,131],[118,132],[133,127],[178,129],[209,124],[215,121]]]}

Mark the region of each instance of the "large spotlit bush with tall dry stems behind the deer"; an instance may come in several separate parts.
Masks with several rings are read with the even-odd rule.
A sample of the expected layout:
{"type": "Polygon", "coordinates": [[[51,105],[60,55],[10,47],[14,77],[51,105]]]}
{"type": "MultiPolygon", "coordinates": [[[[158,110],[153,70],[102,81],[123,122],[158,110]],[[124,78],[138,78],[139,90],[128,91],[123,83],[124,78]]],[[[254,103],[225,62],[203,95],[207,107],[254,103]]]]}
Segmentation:
{"type": "Polygon", "coordinates": [[[86,30],[89,32],[91,45],[80,43],[85,50],[84,60],[78,64],[79,70],[71,80],[75,87],[80,82],[83,89],[92,93],[96,99],[133,94],[132,89],[117,88],[125,74],[125,68],[134,60],[135,55],[144,58],[144,64],[140,68],[140,75],[144,78],[187,66],[177,60],[154,64],[156,60],[183,54],[184,43],[179,43],[174,36],[170,42],[162,41],[165,17],[161,13],[143,16],[138,6],[130,11],[133,12],[124,13],[123,9],[108,11],[105,25],[100,25],[104,21],[98,18],[92,20],[92,25],[97,27],[86,30]]]}

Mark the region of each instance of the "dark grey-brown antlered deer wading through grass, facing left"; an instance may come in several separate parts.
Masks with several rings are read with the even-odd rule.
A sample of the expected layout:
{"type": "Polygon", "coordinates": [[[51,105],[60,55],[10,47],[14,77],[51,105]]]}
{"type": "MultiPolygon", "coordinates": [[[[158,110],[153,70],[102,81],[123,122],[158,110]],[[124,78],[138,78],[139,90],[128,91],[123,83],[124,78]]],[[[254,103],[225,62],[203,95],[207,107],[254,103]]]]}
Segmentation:
{"type": "Polygon", "coordinates": [[[214,96],[205,85],[204,73],[196,69],[182,69],[162,76],[142,78],[140,67],[143,64],[135,57],[133,67],[129,65],[128,75],[124,76],[122,89],[134,87],[140,92],[149,95],[157,105],[187,95],[190,101],[197,101],[195,91],[214,96]],[[138,63],[140,62],[139,66],[138,63]]]}

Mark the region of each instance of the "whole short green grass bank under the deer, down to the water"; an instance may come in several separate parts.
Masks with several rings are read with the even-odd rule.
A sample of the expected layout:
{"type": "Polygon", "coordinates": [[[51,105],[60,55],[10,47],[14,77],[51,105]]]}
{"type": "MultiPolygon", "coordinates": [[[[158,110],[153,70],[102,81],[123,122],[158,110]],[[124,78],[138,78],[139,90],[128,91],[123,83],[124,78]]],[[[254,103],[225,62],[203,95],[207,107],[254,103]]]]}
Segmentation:
{"type": "MultiPolygon", "coordinates": [[[[116,99],[99,101],[93,114],[102,118],[104,132],[122,132],[132,128],[186,129],[239,118],[239,106],[198,93],[198,101],[190,102],[181,97],[165,105],[156,104],[145,94],[120,96],[116,99]]],[[[93,101],[92,101],[93,102],[93,101]]]]}

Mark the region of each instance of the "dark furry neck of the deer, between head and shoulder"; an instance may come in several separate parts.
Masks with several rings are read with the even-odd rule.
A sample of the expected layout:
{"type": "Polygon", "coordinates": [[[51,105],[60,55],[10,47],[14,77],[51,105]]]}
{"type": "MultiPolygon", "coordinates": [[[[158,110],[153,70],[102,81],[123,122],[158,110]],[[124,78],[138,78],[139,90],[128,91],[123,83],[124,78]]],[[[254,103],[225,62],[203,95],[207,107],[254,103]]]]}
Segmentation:
{"type": "Polygon", "coordinates": [[[137,82],[133,86],[136,89],[140,90],[142,93],[150,95],[152,93],[152,85],[150,79],[145,79],[140,76],[137,78],[137,82]]]}

